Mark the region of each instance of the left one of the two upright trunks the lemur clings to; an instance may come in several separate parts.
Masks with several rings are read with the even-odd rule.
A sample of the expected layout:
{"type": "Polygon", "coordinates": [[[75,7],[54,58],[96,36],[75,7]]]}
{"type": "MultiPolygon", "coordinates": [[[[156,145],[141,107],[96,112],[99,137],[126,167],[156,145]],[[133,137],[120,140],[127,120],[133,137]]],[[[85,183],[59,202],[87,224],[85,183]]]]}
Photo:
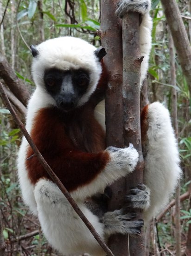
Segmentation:
{"type": "MultiPolygon", "coordinates": [[[[108,69],[108,87],[105,95],[106,110],[106,145],[119,148],[124,147],[122,135],[122,39],[121,20],[115,15],[118,0],[101,2],[101,41],[107,55],[104,64],[108,69]],[[111,15],[112,13],[112,15],[111,15]]],[[[124,180],[121,179],[121,180],[124,180]]],[[[120,181],[121,181],[120,180],[120,181]]],[[[122,206],[124,186],[115,182],[111,186],[113,196],[109,202],[109,210],[122,206]],[[121,196],[119,196],[121,195],[121,196]]]]}

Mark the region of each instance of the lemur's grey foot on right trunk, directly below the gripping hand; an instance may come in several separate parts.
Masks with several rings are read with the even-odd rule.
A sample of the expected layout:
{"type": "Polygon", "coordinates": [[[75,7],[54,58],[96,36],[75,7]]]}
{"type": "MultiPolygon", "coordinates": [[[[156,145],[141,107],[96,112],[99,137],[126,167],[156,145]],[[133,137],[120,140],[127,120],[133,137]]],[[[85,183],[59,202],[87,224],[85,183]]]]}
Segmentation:
{"type": "Polygon", "coordinates": [[[150,205],[150,189],[144,184],[139,184],[136,188],[130,189],[130,194],[126,195],[125,201],[128,206],[146,210],[150,205]]]}

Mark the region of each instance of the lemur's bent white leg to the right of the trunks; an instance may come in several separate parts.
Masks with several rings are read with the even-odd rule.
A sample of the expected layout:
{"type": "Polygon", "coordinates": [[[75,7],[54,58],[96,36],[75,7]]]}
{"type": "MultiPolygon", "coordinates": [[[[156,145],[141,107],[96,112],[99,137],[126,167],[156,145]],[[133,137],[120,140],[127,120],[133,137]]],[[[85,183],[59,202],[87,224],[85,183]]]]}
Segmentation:
{"type": "Polygon", "coordinates": [[[141,113],[141,139],[145,161],[143,182],[151,190],[147,222],[166,205],[181,176],[178,146],[168,110],[159,102],[141,113]]]}

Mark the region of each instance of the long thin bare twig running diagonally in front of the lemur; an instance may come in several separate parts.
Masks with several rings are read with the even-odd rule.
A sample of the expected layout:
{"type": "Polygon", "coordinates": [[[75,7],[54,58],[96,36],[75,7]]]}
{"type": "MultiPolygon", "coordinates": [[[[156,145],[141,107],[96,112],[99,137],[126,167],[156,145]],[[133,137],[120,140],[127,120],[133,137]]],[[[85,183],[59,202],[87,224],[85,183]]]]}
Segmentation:
{"type": "Polygon", "coordinates": [[[85,225],[88,227],[89,231],[92,233],[92,235],[95,237],[96,241],[100,244],[102,249],[108,254],[108,256],[114,256],[112,251],[108,248],[108,246],[104,243],[102,238],[98,235],[92,224],[89,222],[89,220],[84,216],[83,212],[79,209],[78,205],[74,201],[74,199],[71,197],[68,190],[64,187],[62,182],[58,179],[57,175],[53,172],[51,167],[48,165],[48,163],[45,161],[44,157],[39,152],[37,146],[32,141],[30,135],[28,134],[27,130],[25,129],[24,124],[20,121],[18,115],[15,113],[6,93],[3,88],[2,83],[0,82],[0,94],[2,99],[6,102],[6,106],[13,115],[14,120],[17,122],[19,128],[21,129],[23,135],[25,136],[26,140],[28,141],[29,145],[31,146],[33,152],[35,155],[37,155],[38,161],[42,164],[42,166],[45,168],[48,175],[51,177],[52,181],[55,182],[58,186],[58,188],[62,191],[66,199],[70,202],[72,208],[76,211],[76,213],[80,216],[82,221],[85,223],[85,225]]]}

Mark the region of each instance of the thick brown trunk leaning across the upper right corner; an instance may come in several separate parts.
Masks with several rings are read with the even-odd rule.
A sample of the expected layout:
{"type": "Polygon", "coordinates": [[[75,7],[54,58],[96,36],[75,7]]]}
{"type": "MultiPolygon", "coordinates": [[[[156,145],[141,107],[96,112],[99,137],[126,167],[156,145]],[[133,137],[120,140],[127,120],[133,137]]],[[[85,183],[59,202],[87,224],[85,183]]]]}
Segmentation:
{"type": "Polygon", "coordinates": [[[176,0],[161,0],[178,59],[191,92],[191,47],[176,0]],[[172,14],[173,13],[173,14],[172,14]]]}

